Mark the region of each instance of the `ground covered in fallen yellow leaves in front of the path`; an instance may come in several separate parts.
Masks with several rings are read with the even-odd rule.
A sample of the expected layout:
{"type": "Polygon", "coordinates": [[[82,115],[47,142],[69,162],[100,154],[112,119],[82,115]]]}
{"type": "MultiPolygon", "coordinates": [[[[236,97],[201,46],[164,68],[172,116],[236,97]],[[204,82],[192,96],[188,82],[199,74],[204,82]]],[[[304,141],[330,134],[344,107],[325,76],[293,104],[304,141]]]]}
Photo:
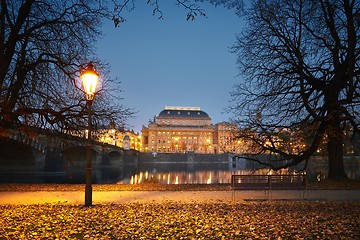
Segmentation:
{"type": "Polygon", "coordinates": [[[360,239],[360,202],[0,206],[0,239],[360,239]]]}

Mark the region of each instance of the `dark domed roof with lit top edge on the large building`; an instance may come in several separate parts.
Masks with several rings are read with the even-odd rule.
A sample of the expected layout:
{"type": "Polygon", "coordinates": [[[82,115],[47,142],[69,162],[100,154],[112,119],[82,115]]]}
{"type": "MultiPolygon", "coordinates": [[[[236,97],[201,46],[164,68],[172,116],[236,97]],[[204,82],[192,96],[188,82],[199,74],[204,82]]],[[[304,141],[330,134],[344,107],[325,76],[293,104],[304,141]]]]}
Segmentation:
{"type": "Polygon", "coordinates": [[[158,117],[161,118],[208,118],[210,116],[199,107],[165,107],[158,117]]]}

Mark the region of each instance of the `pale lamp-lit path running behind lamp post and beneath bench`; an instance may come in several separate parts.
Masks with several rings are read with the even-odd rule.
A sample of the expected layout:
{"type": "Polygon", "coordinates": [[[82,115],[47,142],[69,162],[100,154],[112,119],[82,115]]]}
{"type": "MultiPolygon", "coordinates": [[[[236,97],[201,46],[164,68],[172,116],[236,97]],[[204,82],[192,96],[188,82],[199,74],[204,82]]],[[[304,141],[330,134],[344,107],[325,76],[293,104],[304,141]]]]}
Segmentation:
{"type": "MultiPolygon", "coordinates": [[[[303,191],[272,191],[273,200],[303,199],[303,191]]],[[[266,198],[264,191],[236,191],[236,202],[266,198]]],[[[310,201],[360,201],[360,190],[308,190],[310,201]]],[[[233,202],[232,191],[108,191],[93,192],[93,204],[161,202],[233,202]]],[[[64,203],[83,204],[82,191],[0,192],[0,205],[64,203]]]]}

